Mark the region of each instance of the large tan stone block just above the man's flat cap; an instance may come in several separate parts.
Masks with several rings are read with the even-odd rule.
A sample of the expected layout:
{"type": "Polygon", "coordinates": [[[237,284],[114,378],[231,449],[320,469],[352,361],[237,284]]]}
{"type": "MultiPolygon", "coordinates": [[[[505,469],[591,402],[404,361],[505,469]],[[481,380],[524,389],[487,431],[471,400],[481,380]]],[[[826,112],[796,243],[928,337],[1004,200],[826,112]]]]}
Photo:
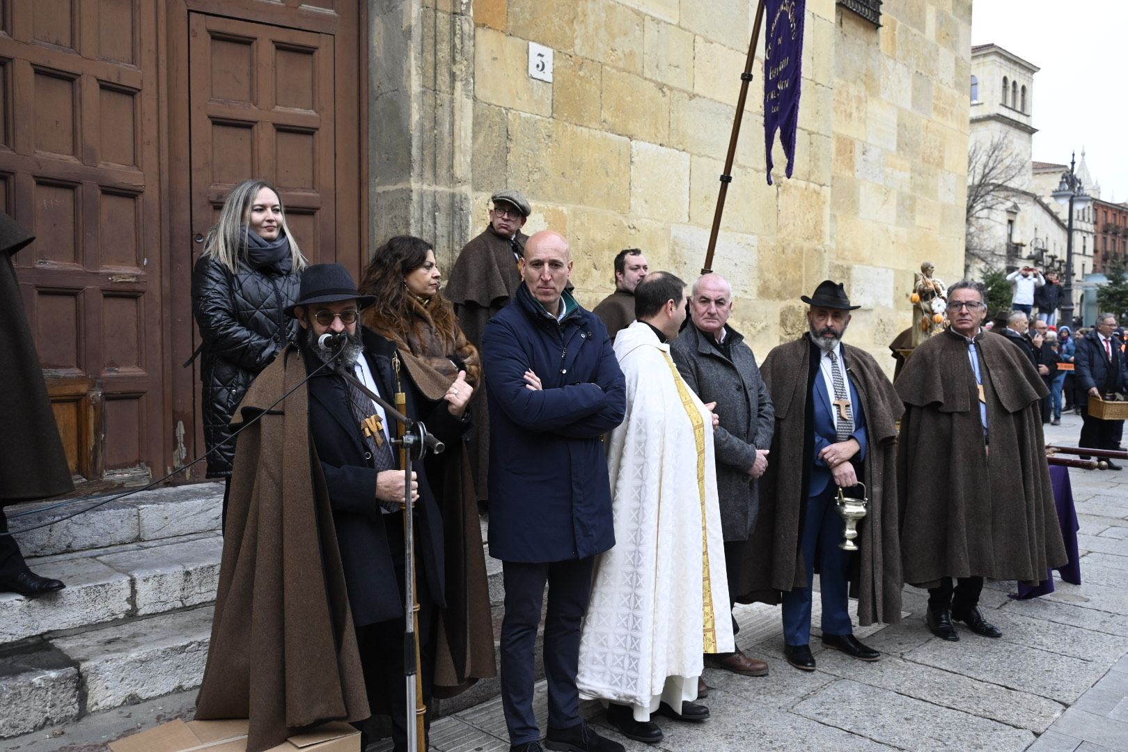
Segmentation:
{"type": "Polygon", "coordinates": [[[509,134],[506,185],[534,201],[629,211],[627,139],[513,112],[509,134]]]}

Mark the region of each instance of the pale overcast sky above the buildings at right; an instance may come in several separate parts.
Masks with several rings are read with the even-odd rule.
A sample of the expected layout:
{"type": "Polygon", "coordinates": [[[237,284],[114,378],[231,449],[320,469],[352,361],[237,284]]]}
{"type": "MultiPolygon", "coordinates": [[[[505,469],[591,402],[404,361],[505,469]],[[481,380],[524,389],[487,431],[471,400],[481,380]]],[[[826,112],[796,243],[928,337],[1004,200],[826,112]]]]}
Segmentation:
{"type": "Polygon", "coordinates": [[[1034,160],[1068,163],[1084,147],[1101,198],[1128,202],[1128,2],[975,0],[971,44],[990,43],[1041,69],[1034,160]]]}

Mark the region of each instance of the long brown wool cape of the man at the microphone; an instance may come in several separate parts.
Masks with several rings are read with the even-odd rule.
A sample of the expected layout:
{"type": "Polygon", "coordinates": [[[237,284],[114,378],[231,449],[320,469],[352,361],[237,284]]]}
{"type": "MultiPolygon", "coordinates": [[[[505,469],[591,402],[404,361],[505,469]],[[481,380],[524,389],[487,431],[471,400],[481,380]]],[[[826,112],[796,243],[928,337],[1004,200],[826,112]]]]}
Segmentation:
{"type": "MultiPolygon", "coordinates": [[[[232,425],[305,377],[301,354],[287,347],[250,384],[232,425]]],[[[312,724],[370,715],[308,406],[307,389],[296,389],[236,449],[196,718],[249,718],[248,752],[312,724]]]]}

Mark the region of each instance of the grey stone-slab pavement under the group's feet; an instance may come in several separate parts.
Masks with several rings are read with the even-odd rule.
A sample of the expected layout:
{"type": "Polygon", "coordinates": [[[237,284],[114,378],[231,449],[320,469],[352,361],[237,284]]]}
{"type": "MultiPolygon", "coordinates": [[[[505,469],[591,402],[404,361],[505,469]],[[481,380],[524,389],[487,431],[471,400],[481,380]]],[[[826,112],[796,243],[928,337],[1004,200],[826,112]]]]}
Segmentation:
{"type": "MultiPolygon", "coordinates": [[[[1081,419],[1067,415],[1047,426],[1047,440],[1075,444],[1079,428],[1081,419]]],[[[1058,581],[1056,592],[1030,601],[1007,598],[1013,582],[988,583],[982,607],[1002,639],[962,627],[959,643],[934,638],[923,621],[925,594],[906,587],[901,623],[856,630],[881,661],[853,661],[814,639],[818,670],[805,673],[783,660],[778,609],[739,607],[738,644],[772,672],[757,679],[706,670],[711,720],[656,718],[666,738],[650,746],[610,731],[598,704],[584,704],[584,714],[633,751],[1128,750],[1128,471],[1070,470],[1070,480],[1084,582],[1058,581]]],[[[191,697],[90,716],[0,749],[95,752],[139,720],[149,726],[186,714],[191,697]]],[[[544,727],[543,682],[537,709],[544,727]]],[[[437,720],[431,741],[441,752],[508,750],[500,700],[437,720]]],[[[384,742],[369,752],[389,749],[384,742]]]]}

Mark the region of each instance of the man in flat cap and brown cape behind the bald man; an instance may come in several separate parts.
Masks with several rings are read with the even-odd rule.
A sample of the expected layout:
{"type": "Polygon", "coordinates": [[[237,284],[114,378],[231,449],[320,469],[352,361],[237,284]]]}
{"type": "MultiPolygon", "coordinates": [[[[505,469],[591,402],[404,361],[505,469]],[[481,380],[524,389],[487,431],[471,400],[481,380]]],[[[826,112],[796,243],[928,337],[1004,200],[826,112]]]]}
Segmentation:
{"type": "MultiPolygon", "coordinates": [[[[462,247],[450,269],[443,294],[455,304],[458,325],[472,345],[482,352],[482,335],[486,321],[505,308],[517,294],[521,275],[517,265],[525,256],[529,236],[521,232],[532,213],[528,200],[519,191],[497,191],[490,201],[490,224],[462,247]]],[[[487,410],[485,381],[475,390],[470,409],[485,416],[487,410]]],[[[490,424],[477,422],[467,453],[474,472],[478,501],[488,498],[490,424]]]]}

